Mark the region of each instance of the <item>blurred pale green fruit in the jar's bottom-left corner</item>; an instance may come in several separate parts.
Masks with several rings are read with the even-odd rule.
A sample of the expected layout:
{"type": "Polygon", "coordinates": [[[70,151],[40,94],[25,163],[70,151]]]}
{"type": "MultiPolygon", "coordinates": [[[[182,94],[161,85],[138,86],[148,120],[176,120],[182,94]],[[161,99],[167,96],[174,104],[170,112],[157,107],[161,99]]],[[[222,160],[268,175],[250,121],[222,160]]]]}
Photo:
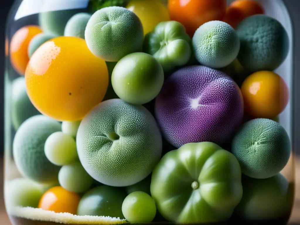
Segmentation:
{"type": "Polygon", "coordinates": [[[8,211],[16,206],[37,208],[42,195],[42,186],[25,178],[16,178],[4,186],[4,198],[8,211]]]}

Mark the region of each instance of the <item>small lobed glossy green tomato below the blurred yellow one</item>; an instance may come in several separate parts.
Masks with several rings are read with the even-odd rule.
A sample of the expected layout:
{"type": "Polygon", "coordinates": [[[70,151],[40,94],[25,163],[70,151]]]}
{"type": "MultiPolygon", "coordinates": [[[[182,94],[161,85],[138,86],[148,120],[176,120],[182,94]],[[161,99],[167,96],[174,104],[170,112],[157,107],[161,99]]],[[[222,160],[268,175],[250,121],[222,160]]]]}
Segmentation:
{"type": "Polygon", "coordinates": [[[164,21],[145,36],[143,52],[153,55],[164,72],[184,66],[190,60],[191,40],[184,26],[177,21],[164,21]]]}

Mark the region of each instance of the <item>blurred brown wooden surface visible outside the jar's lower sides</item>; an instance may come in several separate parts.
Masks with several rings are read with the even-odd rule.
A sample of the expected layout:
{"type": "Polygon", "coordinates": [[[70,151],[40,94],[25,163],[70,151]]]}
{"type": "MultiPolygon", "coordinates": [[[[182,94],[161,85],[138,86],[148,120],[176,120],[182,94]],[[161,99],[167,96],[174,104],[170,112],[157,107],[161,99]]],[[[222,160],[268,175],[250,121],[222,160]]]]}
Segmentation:
{"type": "MultiPolygon", "coordinates": [[[[1,158],[0,158],[1,160],[1,158]]],[[[0,163],[2,160],[0,161],[0,163]]],[[[0,225],[12,225],[7,217],[3,202],[3,172],[2,166],[0,167],[0,225]]],[[[290,222],[292,224],[300,225],[300,158],[296,162],[296,187],[295,187],[295,202],[294,209],[290,222]]]]}

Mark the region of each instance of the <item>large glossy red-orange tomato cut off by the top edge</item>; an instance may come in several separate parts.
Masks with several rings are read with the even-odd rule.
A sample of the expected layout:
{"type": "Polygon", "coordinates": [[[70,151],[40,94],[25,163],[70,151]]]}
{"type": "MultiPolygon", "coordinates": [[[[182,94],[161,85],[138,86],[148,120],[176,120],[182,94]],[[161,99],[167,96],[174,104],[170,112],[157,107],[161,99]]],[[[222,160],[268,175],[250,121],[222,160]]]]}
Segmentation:
{"type": "Polygon", "coordinates": [[[226,0],[169,0],[170,19],[184,25],[190,37],[203,23],[223,20],[226,13],[226,0]]]}

